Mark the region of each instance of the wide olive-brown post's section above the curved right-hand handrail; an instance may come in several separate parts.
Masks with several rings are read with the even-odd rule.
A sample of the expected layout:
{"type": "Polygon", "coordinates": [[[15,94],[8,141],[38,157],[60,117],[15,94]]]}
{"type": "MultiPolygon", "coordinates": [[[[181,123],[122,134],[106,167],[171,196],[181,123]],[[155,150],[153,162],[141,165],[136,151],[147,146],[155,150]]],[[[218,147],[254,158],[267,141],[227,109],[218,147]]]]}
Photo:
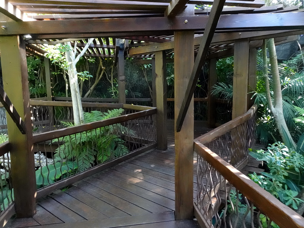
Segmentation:
{"type": "Polygon", "coordinates": [[[234,44],[232,119],[247,112],[249,40],[234,44]]]}

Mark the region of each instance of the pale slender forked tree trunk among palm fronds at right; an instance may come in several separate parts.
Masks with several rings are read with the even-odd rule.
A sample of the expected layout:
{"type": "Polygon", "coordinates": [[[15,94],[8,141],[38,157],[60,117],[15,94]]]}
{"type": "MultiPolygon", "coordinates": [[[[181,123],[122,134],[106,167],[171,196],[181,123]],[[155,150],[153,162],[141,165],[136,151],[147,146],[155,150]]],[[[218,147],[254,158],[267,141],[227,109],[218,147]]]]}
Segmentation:
{"type": "Polygon", "coordinates": [[[282,89],[281,89],[280,75],[278,71],[278,60],[275,51],[274,39],[268,39],[267,46],[268,46],[270,67],[272,74],[274,104],[272,103],[270,97],[269,79],[267,72],[268,67],[267,67],[267,57],[266,57],[266,44],[264,41],[263,43],[264,77],[266,83],[266,95],[267,95],[269,109],[275,118],[275,122],[283,142],[286,144],[286,142],[290,141],[293,147],[295,147],[295,142],[293,141],[292,136],[290,135],[290,132],[288,130],[283,115],[282,89]],[[283,129],[285,130],[285,133],[287,135],[284,133],[283,129]]]}

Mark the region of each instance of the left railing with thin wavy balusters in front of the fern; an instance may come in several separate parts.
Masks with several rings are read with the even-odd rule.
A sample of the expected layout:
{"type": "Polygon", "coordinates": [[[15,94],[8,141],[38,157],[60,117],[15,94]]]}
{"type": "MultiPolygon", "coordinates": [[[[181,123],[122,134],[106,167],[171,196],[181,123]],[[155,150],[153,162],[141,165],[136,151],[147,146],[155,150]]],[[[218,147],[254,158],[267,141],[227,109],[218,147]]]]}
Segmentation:
{"type": "Polygon", "coordinates": [[[156,108],[89,104],[124,115],[34,134],[37,198],[156,146],[156,108]]]}

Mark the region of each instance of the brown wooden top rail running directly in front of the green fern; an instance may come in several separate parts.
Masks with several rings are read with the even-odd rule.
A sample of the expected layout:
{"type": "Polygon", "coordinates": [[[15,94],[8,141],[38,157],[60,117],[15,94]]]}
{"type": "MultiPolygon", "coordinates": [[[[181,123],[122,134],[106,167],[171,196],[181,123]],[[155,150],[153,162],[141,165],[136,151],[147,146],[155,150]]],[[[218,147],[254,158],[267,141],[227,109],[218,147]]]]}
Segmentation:
{"type": "MultiPolygon", "coordinates": [[[[136,106],[136,105],[132,105],[132,106],[136,106]]],[[[49,132],[33,135],[33,143],[40,143],[40,142],[44,142],[47,140],[52,140],[52,139],[64,137],[67,135],[76,134],[76,133],[80,133],[83,131],[89,131],[89,130],[93,130],[96,128],[109,126],[109,125],[112,125],[115,123],[121,123],[121,122],[128,121],[131,119],[136,119],[136,118],[140,118],[143,116],[156,114],[156,108],[151,108],[151,107],[147,107],[147,108],[149,108],[149,109],[146,109],[146,110],[143,110],[140,112],[135,112],[135,113],[126,114],[123,116],[118,116],[118,117],[114,117],[114,118],[110,118],[110,119],[104,119],[104,120],[95,121],[92,123],[85,123],[85,124],[81,124],[78,126],[67,127],[67,128],[63,128],[63,129],[58,129],[58,130],[54,130],[54,131],[49,131],[49,132]]]]}

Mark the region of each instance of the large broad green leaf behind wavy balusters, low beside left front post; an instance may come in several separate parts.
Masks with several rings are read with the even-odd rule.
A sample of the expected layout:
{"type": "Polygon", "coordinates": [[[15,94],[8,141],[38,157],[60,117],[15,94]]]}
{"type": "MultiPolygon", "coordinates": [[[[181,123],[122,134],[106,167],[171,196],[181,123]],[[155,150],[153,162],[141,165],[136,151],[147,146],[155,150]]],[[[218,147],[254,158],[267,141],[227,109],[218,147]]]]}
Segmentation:
{"type": "Polygon", "coordinates": [[[39,189],[53,184],[55,181],[59,180],[62,175],[71,173],[77,168],[77,163],[72,161],[62,163],[56,162],[54,165],[48,164],[47,166],[43,166],[42,168],[36,170],[36,187],[39,189]]]}

